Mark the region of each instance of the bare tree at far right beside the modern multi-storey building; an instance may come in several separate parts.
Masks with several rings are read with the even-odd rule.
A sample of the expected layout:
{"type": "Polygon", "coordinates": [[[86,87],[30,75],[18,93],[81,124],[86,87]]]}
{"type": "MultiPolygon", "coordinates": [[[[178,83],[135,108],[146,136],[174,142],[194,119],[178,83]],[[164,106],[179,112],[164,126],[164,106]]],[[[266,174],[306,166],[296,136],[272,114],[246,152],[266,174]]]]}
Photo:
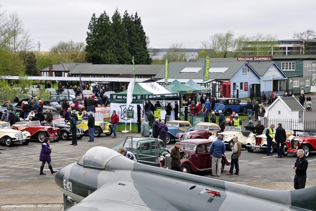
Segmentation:
{"type": "Polygon", "coordinates": [[[311,48],[311,42],[316,42],[316,32],[315,30],[307,29],[303,32],[294,32],[294,39],[299,39],[302,41],[301,44],[297,44],[296,48],[302,49],[303,54],[314,54],[315,51],[311,48]]]}

